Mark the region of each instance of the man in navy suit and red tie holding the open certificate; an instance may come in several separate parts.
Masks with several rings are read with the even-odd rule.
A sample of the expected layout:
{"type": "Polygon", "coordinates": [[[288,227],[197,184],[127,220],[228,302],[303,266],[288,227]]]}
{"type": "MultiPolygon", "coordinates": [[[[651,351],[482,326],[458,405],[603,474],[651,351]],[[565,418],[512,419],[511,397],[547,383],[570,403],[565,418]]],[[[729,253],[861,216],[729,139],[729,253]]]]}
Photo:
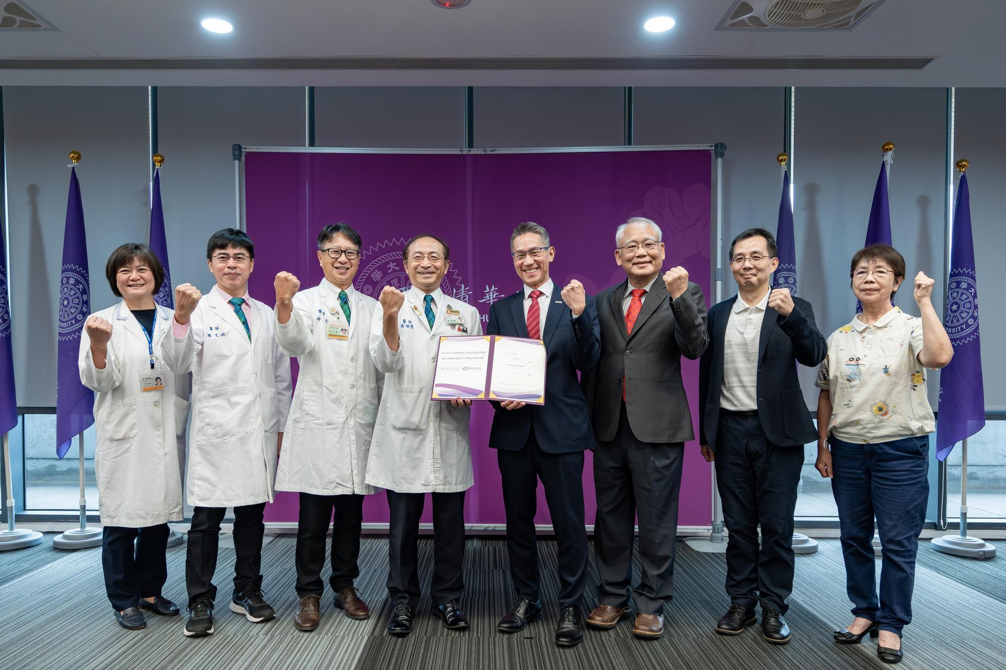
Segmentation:
{"type": "Polygon", "coordinates": [[[548,278],[555,247],[549,244],[548,231],[537,223],[521,223],[514,229],[510,255],[524,286],[492,306],[486,334],[543,340],[546,377],[542,406],[518,400],[494,402],[489,446],[499,458],[510,576],[517,591],[517,601],[498,628],[516,633],[541,618],[534,537],[535,489],[540,479],[558,543],[561,614],[555,643],[573,646],[583,639],[579,603],[586,581],[583,451],[595,446],[576,370],[598,362],[598,313],[594,298],[575,280],[558,295],[548,278]]]}

